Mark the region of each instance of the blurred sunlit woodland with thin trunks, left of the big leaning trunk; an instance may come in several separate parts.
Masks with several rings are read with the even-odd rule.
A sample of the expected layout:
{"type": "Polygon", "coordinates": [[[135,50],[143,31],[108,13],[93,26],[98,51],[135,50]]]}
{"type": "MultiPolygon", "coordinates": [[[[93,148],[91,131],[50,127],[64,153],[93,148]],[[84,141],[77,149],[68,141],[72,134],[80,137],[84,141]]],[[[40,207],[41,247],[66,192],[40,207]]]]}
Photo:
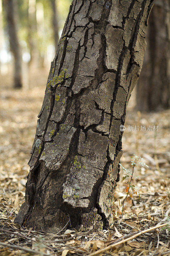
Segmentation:
{"type": "Polygon", "coordinates": [[[70,4],[71,0],[0,1],[0,73],[13,73],[14,87],[28,89],[35,69],[49,70],[70,4]]]}

